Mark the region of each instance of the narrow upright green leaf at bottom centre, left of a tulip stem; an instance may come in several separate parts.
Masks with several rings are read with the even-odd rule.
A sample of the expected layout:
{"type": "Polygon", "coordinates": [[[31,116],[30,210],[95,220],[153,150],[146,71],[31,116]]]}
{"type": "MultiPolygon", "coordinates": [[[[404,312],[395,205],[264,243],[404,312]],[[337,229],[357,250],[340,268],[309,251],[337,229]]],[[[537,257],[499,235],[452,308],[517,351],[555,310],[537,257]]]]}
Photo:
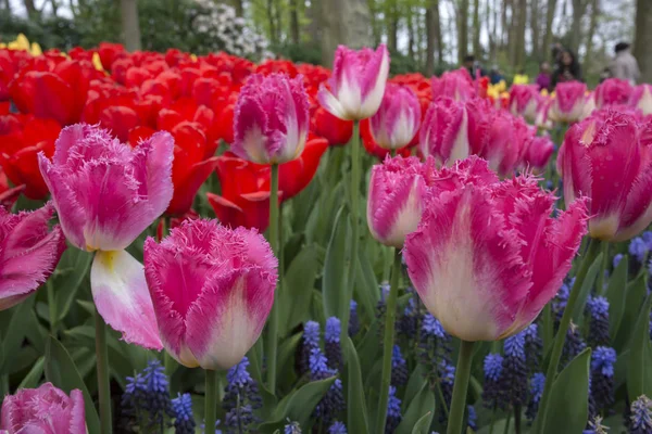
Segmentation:
{"type": "Polygon", "coordinates": [[[364,386],[362,384],[362,372],[360,371],[360,360],[358,352],[351,337],[343,342],[344,357],[347,360],[347,384],[348,384],[348,419],[347,427],[351,433],[366,434],[369,432],[368,418],[366,412],[364,386]]]}

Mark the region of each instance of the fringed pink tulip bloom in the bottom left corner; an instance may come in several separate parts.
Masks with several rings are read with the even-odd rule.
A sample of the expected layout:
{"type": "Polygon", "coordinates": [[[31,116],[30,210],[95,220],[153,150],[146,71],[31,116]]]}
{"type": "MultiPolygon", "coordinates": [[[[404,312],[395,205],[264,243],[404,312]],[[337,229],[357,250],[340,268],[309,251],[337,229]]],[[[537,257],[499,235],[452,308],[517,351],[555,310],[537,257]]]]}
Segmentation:
{"type": "Polygon", "coordinates": [[[0,430],[9,434],[86,434],[84,395],[75,388],[68,397],[52,383],[22,388],[4,397],[0,430]]]}

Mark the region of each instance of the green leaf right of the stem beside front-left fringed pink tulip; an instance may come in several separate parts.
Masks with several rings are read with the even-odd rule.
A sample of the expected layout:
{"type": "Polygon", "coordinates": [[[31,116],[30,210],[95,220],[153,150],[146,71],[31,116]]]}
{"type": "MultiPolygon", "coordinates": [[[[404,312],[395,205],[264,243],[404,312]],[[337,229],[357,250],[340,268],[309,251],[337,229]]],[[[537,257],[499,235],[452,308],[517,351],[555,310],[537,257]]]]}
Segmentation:
{"type": "Polygon", "coordinates": [[[317,277],[317,256],[313,246],[304,247],[290,264],[279,296],[280,336],[309,319],[312,289],[317,277]]]}

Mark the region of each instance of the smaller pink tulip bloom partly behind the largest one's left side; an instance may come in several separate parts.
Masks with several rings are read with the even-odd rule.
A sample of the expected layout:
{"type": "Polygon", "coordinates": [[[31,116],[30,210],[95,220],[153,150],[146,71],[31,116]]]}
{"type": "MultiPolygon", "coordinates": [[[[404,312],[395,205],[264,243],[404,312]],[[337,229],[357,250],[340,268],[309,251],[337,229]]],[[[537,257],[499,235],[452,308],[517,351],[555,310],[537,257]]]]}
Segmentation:
{"type": "Polygon", "coordinates": [[[405,235],[416,230],[435,174],[432,157],[425,163],[414,156],[388,157],[372,168],[367,221],[376,240],[403,247],[405,235]]]}

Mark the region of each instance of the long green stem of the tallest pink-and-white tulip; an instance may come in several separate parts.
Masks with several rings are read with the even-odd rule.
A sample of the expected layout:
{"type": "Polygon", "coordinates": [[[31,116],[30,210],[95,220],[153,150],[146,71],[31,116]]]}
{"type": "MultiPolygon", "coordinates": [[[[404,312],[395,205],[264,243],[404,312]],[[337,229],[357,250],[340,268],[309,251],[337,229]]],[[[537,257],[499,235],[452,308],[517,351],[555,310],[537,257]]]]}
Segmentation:
{"type": "Polygon", "coordinates": [[[353,299],[355,286],[355,271],[358,265],[358,242],[360,233],[360,179],[362,177],[362,161],[360,156],[360,122],[353,122],[353,136],[351,136],[351,251],[349,259],[349,273],[347,278],[347,296],[342,298],[340,311],[342,315],[342,339],[349,331],[349,305],[353,299]]]}

